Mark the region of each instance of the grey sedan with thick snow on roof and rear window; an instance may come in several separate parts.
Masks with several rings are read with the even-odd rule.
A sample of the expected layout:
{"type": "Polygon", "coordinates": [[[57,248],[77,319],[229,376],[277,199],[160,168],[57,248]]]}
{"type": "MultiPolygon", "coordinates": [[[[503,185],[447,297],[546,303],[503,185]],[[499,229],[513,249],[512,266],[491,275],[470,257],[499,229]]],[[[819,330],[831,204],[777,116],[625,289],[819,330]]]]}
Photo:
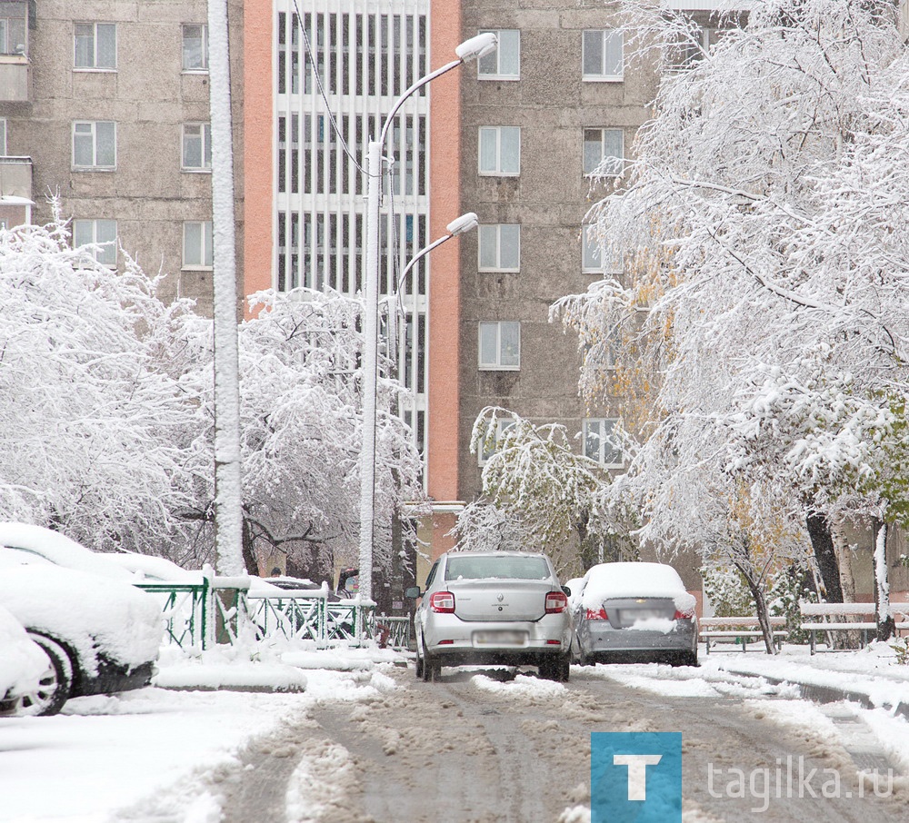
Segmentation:
{"type": "Polygon", "coordinates": [[[664,660],[697,665],[694,595],[665,563],[600,563],[574,600],[582,664],[664,660]]]}

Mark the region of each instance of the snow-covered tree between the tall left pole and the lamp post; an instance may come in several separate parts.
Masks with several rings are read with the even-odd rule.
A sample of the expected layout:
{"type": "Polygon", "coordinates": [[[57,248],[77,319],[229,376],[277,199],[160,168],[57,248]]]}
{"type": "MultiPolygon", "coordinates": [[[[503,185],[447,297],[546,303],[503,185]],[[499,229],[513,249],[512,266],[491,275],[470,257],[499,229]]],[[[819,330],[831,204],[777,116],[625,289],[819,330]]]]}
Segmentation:
{"type": "MultiPolygon", "coordinates": [[[[284,551],[305,567],[330,570],[356,560],[359,382],[363,304],[330,290],[266,291],[250,298],[253,317],[239,333],[244,554],[257,573],[265,550],[284,551]]],[[[196,346],[200,346],[197,341],[196,346]]],[[[191,449],[196,473],[210,464],[212,395],[210,332],[207,352],[191,377],[204,400],[191,449]]],[[[405,501],[422,498],[420,459],[405,424],[391,412],[403,387],[379,382],[376,431],[376,570],[391,562],[391,522],[405,501]]],[[[195,517],[210,519],[210,482],[195,517]]]]}

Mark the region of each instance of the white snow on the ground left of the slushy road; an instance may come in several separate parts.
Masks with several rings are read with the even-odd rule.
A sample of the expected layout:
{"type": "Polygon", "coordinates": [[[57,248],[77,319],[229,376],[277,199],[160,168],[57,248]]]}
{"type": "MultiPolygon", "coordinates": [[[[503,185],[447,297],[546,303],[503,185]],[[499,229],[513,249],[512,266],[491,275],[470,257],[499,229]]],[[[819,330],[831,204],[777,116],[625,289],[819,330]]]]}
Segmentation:
{"type": "MultiPolygon", "coordinates": [[[[375,657],[384,652],[375,649],[375,657]]],[[[245,681],[249,689],[305,682],[302,693],[173,691],[151,687],[116,697],[70,700],[51,718],[0,720],[0,820],[99,823],[166,819],[215,823],[218,798],[205,791],[240,768],[246,741],[279,729],[317,700],[359,701],[395,688],[358,650],[354,671],[308,668],[280,660],[233,663],[223,655],[182,661],[165,656],[159,681],[204,689],[245,681]],[[295,671],[295,677],[289,674],[295,671]]]]}

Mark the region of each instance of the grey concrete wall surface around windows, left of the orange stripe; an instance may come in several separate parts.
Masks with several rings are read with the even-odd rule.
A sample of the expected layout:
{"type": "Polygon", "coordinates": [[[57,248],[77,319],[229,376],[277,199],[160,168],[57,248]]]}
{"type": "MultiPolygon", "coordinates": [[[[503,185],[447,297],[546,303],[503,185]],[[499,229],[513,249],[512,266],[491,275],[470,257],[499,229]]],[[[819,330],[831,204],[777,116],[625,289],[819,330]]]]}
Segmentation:
{"type": "MultiPolygon", "coordinates": [[[[167,275],[165,298],[192,297],[200,312],[210,313],[211,269],[183,269],[182,252],[183,222],[211,220],[211,174],[181,170],[182,125],[209,121],[208,74],[183,71],[182,26],[206,24],[207,3],[42,0],[32,8],[30,99],[0,103],[0,117],[7,121],[7,153],[33,161],[33,221],[50,219],[50,194],[58,196],[66,219],[116,220],[125,251],[146,273],[167,275]],[[114,70],[75,68],[76,23],[116,25],[114,70]],[[76,120],[115,122],[113,170],[73,168],[76,120]]],[[[242,282],[242,0],[232,0],[229,16],[242,282]]]]}

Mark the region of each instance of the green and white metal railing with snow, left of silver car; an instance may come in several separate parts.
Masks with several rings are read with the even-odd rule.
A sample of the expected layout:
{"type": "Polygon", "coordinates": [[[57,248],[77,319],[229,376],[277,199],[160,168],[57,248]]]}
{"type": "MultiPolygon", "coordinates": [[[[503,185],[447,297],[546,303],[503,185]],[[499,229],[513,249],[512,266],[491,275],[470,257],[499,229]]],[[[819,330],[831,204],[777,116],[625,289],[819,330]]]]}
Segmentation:
{"type": "Polygon", "coordinates": [[[329,601],[316,591],[249,590],[249,579],[215,576],[206,566],[199,583],[138,582],[161,601],[165,639],[187,651],[245,640],[310,641],[316,648],[376,640],[406,649],[410,619],[375,614],[371,600],[329,601]]]}

